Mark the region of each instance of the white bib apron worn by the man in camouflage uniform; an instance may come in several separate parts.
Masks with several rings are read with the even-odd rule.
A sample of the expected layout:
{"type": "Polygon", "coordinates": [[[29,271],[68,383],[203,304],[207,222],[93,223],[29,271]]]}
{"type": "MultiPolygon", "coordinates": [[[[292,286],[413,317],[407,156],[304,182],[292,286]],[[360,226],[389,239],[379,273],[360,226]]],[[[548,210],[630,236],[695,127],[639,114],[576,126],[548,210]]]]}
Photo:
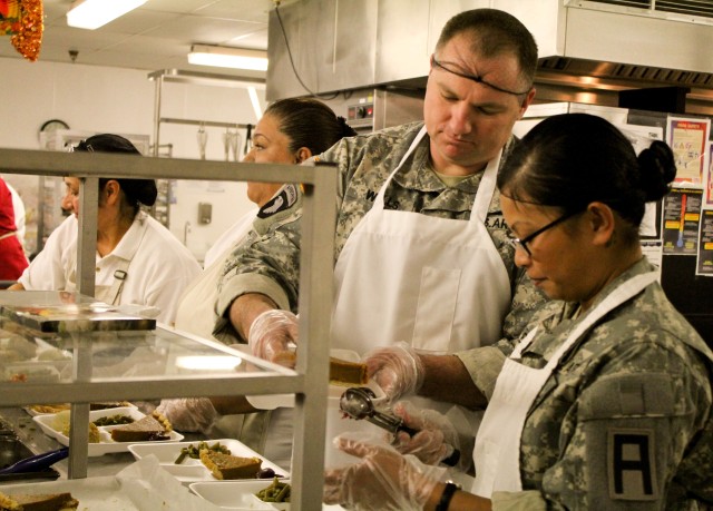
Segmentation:
{"type": "Polygon", "coordinates": [[[406,341],[455,352],[500,336],[510,281],[485,219],[500,158],[486,168],[469,222],[384,209],[395,173],[349,236],[336,266],[332,347],[356,353],[406,341]]]}

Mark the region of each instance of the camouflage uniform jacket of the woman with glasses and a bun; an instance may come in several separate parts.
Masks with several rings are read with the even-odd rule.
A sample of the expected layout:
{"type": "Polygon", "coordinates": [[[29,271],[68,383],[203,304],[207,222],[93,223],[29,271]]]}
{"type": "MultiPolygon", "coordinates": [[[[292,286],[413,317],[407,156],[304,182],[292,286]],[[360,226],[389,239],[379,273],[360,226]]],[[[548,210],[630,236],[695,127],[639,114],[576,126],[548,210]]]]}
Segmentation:
{"type": "MultiPolygon", "coordinates": [[[[592,308],[624,279],[651,271],[642,259],[592,308]]],[[[576,309],[550,302],[539,311],[546,318],[524,364],[545,365],[578,323],[576,309]]],[[[704,341],[661,286],[649,285],[560,361],[522,430],[525,491],[495,493],[494,509],[701,509],[692,493],[713,502],[712,370],[704,341]],[[632,444],[634,455],[625,449],[632,444]]]]}

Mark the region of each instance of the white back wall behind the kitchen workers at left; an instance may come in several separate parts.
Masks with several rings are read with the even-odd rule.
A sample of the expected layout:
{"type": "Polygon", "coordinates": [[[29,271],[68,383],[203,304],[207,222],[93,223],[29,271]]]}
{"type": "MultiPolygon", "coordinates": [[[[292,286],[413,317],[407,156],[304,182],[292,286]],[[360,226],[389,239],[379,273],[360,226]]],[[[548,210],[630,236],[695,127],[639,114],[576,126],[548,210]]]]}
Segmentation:
{"type": "MultiPolygon", "coordinates": [[[[0,147],[38,149],[39,129],[61,119],[71,129],[95,132],[154,135],[155,85],[148,72],[78,63],[29,62],[0,58],[0,147]]],[[[257,91],[264,109],[264,91],[257,91]]],[[[257,119],[246,89],[166,83],[162,117],[252,124],[257,119]]],[[[206,128],[207,159],[224,159],[222,128],[206,128]]],[[[173,144],[173,156],[199,158],[197,127],[162,125],[160,144],[173,144]]],[[[241,132],[245,144],[245,132],[241,132]]],[[[152,140],[153,143],[153,140],[152,140]]],[[[1,170],[0,163],[0,173],[1,170]]],[[[21,193],[28,215],[37,208],[37,178],[6,174],[21,193]]],[[[243,183],[182,181],[176,184],[170,230],[202,258],[212,242],[252,207],[243,183]],[[198,225],[197,204],[213,205],[213,222],[198,225]],[[189,229],[186,225],[189,223],[189,229]],[[184,233],[189,230],[187,238],[184,233]]],[[[28,233],[31,236],[32,233],[28,233]]]]}

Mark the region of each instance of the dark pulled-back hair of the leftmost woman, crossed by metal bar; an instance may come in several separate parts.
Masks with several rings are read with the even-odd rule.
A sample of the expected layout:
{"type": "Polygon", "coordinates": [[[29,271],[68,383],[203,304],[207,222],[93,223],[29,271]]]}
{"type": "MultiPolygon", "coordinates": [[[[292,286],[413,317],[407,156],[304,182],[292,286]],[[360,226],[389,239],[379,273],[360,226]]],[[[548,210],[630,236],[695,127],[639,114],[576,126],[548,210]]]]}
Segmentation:
{"type": "MultiPolygon", "coordinates": [[[[123,153],[140,156],[139,150],[134,144],[119,135],[113,134],[101,134],[89,137],[75,146],[74,150],[80,153],[123,153]]],[[[116,180],[119,184],[121,190],[124,190],[126,202],[134,208],[134,214],[138,212],[139,205],[153,206],[154,203],[156,203],[158,190],[154,179],[116,179],[113,177],[102,177],[99,179],[99,189],[104,189],[109,180],[116,180]]]]}

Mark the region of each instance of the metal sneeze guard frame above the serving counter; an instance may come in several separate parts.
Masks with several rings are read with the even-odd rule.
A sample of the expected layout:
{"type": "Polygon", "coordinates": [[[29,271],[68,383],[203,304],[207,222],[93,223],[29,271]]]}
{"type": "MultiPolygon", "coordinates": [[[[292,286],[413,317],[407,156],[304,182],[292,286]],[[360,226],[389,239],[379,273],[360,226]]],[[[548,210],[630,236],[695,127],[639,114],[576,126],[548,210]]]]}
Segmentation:
{"type": "Polygon", "coordinates": [[[98,179],[156,178],[198,180],[257,180],[303,185],[302,250],[300,259],[300,356],[294,375],[240,379],[162,380],[152,382],[95,383],[82,374],[81,361],[71,384],[0,383],[0,406],[70,402],[70,478],[87,476],[89,403],[99,400],[153,400],[228,394],[295,394],[295,429],[292,463],[292,509],[322,508],[324,483],[324,435],[329,389],[329,345],[332,314],[334,229],[336,222],[336,171],[326,165],[275,165],[195,159],[136,157],[105,153],[59,153],[0,148],[2,173],[46,176],[77,176],[81,179],[78,291],[94,296],[98,208],[98,179]],[[309,340],[309,341],[307,341],[309,340]],[[305,342],[306,341],[306,342],[305,342]],[[177,389],[180,390],[177,395],[177,389]],[[21,390],[21,391],[20,391],[21,390]],[[13,392],[10,392],[13,391],[13,392]],[[20,392],[18,392],[20,391],[20,392]],[[86,424],[86,425],[85,425],[86,424]],[[309,429],[307,425],[309,424],[309,429]],[[84,428],[82,428],[84,425],[84,428]],[[81,430],[81,431],[80,431],[81,430]],[[309,481],[305,475],[310,474],[309,481]],[[319,505],[318,505],[319,503],[319,505]]]}

